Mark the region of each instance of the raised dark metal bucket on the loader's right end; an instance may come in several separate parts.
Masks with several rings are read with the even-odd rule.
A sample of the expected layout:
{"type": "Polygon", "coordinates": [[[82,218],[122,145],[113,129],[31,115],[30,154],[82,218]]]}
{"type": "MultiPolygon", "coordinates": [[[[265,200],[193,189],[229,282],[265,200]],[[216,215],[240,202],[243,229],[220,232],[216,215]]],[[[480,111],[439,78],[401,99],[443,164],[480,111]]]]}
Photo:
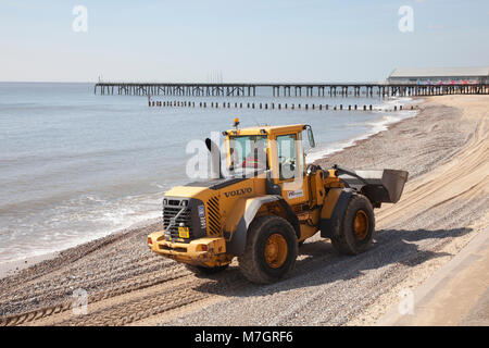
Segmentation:
{"type": "Polygon", "coordinates": [[[405,171],[352,171],[340,167],[338,171],[340,179],[375,203],[397,203],[408,181],[405,171]]]}

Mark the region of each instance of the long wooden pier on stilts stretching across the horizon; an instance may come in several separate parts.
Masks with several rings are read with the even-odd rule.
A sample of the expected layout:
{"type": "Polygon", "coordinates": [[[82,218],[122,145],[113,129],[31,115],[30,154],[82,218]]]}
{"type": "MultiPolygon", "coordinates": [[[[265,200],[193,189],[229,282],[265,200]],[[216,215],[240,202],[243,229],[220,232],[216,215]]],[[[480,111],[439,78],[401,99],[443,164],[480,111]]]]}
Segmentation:
{"type": "Polygon", "coordinates": [[[95,94],[127,96],[255,97],[256,88],[268,88],[274,97],[411,97],[488,95],[489,84],[190,84],[98,83],[95,94]]]}

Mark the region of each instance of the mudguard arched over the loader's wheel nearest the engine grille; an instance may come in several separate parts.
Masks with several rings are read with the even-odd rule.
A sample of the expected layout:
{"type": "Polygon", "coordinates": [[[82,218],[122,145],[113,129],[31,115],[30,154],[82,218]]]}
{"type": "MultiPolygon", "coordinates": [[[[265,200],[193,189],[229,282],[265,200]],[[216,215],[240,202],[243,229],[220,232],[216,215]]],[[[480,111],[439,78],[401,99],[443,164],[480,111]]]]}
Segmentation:
{"type": "Polygon", "coordinates": [[[225,227],[225,231],[234,229],[231,221],[237,221],[236,229],[233,233],[230,240],[226,245],[227,252],[235,256],[242,254],[242,252],[244,251],[244,246],[247,244],[248,227],[254,220],[260,208],[263,204],[269,202],[278,202],[284,208],[287,213],[288,221],[296,229],[297,237],[300,237],[299,219],[293,213],[292,208],[290,208],[290,206],[281,196],[268,195],[254,198],[242,198],[235,203],[235,207],[233,208],[233,214],[229,216],[229,225],[225,227]]]}

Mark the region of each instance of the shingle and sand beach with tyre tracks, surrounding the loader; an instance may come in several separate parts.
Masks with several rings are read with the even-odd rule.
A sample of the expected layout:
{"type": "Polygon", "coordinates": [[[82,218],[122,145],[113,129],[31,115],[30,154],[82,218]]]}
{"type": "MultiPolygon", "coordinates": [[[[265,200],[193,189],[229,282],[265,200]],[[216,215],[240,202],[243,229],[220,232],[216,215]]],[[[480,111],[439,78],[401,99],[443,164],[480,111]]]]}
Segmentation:
{"type": "Polygon", "coordinates": [[[488,96],[424,98],[417,116],[318,162],[410,172],[397,204],[376,210],[367,252],[339,256],[318,236],[300,249],[292,276],[255,286],[236,261],[198,278],[149,252],[160,222],[65,250],[0,279],[0,323],[10,325],[374,324],[488,225],[488,96]],[[88,314],[72,311],[85,289],[88,314]],[[292,304],[291,304],[292,303],[292,304]]]}

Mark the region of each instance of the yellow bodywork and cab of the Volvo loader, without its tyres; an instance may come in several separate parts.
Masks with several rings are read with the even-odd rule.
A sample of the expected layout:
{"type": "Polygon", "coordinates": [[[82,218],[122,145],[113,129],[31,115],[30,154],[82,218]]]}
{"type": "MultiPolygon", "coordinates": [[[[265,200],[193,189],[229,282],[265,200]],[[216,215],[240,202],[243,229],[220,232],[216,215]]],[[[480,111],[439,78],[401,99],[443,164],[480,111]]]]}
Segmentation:
{"type": "MultiPolygon", "coordinates": [[[[259,151],[264,151],[263,167],[256,165],[253,175],[246,177],[234,175],[190,183],[165,192],[165,228],[148,236],[149,248],[192,265],[226,265],[243,252],[248,227],[262,215],[278,215],[287,220],[293,226],[298,241],[312,237],[319,229],[324,229],[322,236],[329,237],[333,232],[326,231],[329,228],[328,221],[335,214],[341,214],[341,209],[335,208],[348,200],[346,188],[349,185],[339,177],[336,169],[324,171],[318,166],[305,165],[302,135],[310,129],[308,127],[297,124],[236,127],[224,132],[227,169],[236,170],[247,161],[243,160],[246,156],[235,153],[234,146],[234,142],[243,141],[247,137],[262,141],[259,151]],[[287,156],[284,156],[286,152],[287,156]],[[237,163],[237,158],[243,160],[242,163],[237,163]],[[284,177],[281,172],[285,169],[289,172],[293,169],[293,174],[284,177]]],[[[362,187],[366,186],[363,184],[362,187]]],[[[379,195],[375,188],[372,190],[379,195]]],[[[372,203],[379,206],[374,200],[372,203]]]]}

